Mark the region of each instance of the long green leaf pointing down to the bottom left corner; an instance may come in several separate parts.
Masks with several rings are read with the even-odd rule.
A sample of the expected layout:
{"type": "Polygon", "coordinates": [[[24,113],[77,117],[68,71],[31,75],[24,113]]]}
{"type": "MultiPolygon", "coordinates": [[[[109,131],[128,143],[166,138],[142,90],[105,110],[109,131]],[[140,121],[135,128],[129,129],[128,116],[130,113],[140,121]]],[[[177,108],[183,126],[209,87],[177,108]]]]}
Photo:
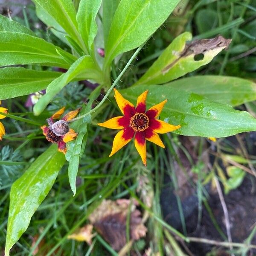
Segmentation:
{"type": "Polygon", "coordinates": [[[57,145],[52,145],[12,184],[6,256],[9,256],[9,250],[26,231],[32,215],[52,188],[64,163],[64,154],[58,152],[57,145]]]}

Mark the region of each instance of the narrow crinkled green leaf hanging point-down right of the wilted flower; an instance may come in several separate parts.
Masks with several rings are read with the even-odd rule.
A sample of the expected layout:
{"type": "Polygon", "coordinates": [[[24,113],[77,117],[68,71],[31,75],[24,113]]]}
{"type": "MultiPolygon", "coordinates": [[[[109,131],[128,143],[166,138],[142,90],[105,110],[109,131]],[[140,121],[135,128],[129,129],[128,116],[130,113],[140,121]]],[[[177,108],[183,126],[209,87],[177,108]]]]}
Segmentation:
{"type": "MultiPolygon", "coordinates": [[[[97,87],[93,93],[89,96],[89,102],[84,106],[80,112],[81,115],[89,112],[92,108],[94,100],[99,96],[101,87],[97,87]]],[[[87,141],[87,125],[91,122],[91,116],[86,116],[83,119],[79,119],[75,122],[75,126],[72,126],[75,131],[78,131],[78,136],[76,140],[68,143],[68,150],[66,153],[66,159],[70,162],[68,166],[68,177],[70,182],[70,187],[76,195],[76,176],[79,168],[79,158],[82,156],[84,147],[87,141]]]]}

